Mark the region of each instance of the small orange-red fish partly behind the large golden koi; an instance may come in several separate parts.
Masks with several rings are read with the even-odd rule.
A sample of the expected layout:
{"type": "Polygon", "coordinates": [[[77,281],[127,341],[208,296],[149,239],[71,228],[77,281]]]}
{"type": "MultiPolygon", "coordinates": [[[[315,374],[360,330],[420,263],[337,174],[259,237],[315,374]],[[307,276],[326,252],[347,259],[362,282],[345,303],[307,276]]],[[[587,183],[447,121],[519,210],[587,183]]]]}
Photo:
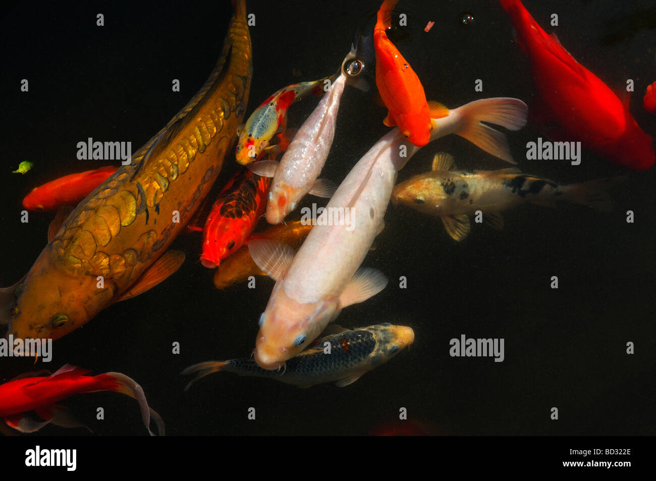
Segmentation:
{"type": "Polygon", "coordinates": [[[56,211],[62,205],[77,205],[117,169],[108,165],[94,171],[64,175],[33,188],[23,199],[23,207],[28,211],[56,211]]]}

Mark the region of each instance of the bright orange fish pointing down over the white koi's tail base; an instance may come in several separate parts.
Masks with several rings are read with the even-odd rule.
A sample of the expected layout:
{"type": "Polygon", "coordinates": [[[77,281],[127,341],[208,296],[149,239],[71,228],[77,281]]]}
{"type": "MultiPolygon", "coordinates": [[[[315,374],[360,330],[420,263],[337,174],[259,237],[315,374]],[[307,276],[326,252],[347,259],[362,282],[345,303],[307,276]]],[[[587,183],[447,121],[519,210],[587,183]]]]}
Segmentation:
{"type": "MultiPolygon", "coordinates": [[[[376,51],[376,86],[380,98],[387,107],[388,115],[383,123],[389,127],[398,125],[405,137],[417,147],[428,144],[432,112],[426,102],[426,94],[417,73],[403,58],[385,30],[392,25],[392,9],[398,0],[385,0],[378,10],[373,31],[376,51]]],[[[447,114],[436,114],[445,117],[447,114]]],[[[438,118],[438,117],[436,117],[438,118]]]]}

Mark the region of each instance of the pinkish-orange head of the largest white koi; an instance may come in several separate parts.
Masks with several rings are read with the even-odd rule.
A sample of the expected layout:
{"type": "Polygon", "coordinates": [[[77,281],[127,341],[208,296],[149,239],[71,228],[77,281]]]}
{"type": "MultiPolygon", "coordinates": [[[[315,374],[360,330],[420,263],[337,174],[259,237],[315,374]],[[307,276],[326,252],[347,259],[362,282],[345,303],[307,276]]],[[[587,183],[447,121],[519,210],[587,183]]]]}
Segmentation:
{"type": "Polygon", "coordinates": [[[266,310],[260,316],[255,341],[255,361],[262,369],[274,370],[297,356],[316,339],[338,313],[337,299],[299,303],[287,296],[277,282],[266,310]]]}

